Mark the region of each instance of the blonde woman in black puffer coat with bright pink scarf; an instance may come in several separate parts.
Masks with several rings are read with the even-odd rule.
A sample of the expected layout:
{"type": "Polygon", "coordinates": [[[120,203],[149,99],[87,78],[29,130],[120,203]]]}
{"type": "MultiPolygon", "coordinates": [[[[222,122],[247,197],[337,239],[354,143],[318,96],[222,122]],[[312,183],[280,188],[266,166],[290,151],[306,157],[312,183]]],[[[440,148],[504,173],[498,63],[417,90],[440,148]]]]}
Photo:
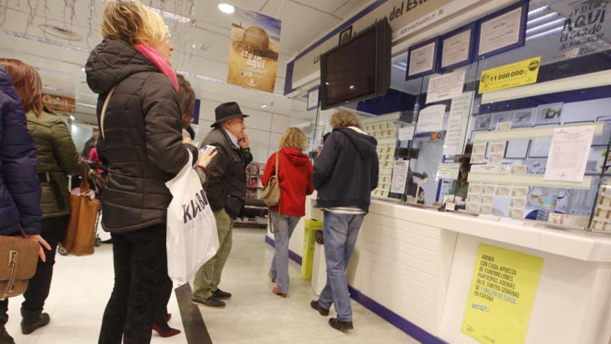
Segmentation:
{"type": "Polygon", "coordinates": [[[150,343],[153,316],[167,282],[165,227],[171,194],[165,182],[189,160],[212,158],[183,144],[178,82],[171,68],[174,48],[163,19],[139,1],[108,1],[103,41],[85,72],[99,93],[100,123],[109,181],[102,226],[112,236],[115,287],[104,312],[99,343],[150,343]]]}

